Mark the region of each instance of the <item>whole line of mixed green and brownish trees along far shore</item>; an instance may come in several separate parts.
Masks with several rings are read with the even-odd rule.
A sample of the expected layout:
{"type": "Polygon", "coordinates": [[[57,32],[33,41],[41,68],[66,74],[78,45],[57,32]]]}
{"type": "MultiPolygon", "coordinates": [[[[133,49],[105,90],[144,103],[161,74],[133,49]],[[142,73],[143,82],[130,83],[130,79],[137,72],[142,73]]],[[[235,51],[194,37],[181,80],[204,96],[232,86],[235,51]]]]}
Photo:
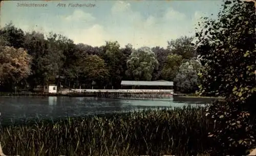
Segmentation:
{"type": "Polygon", "coordinates": [[[12,23],[1,29],[1,91],[57,84],[58,87],[118,89],[122,80],[174,81],[178,89],[197,89],[193,37],[168,41],[168,46],[141,47],[117,41],[102,46],[75,44],[60,34],[24,32],[12,23]]]}

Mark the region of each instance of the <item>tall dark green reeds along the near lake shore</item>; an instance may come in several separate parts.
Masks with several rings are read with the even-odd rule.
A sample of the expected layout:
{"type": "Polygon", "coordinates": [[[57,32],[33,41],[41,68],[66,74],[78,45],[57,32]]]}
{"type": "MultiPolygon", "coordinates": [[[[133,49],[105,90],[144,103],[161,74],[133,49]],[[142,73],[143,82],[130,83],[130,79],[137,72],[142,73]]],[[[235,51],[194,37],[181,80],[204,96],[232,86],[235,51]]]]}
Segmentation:
{"type": "Polygon", "coordinates": [[[4,153],[19,155],[196,155],[209,146],[204,108],[184,107],[105,117],[6,126],[4,153]]]}

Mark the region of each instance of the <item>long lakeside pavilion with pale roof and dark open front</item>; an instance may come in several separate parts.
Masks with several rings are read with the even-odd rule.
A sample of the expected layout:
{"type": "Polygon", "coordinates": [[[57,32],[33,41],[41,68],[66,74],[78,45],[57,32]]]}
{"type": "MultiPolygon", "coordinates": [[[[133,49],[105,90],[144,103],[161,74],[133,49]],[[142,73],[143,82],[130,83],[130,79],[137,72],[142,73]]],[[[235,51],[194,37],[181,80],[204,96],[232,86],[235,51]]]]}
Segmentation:
{"type": "Polygon", "coordinates": [[[122,89],[173,89],[174,83],[170,81],[122,81],[122,89]]]}

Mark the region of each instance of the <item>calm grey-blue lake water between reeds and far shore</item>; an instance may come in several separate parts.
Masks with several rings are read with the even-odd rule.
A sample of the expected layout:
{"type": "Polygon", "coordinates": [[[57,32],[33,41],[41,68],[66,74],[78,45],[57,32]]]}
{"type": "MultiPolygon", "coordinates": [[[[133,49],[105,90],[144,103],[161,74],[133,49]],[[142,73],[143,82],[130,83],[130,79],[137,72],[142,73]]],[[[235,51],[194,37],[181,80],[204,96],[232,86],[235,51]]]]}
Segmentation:
{"type": "Polygon", "coordinates": [[[143,109],[162,109],[202,105],[203,101],[174,101],[169,99],[108,99],[96,97],[37,97],[0,96],[2,123],[28,118],[65,118],[92,114],[129,112],[143,109]]]}

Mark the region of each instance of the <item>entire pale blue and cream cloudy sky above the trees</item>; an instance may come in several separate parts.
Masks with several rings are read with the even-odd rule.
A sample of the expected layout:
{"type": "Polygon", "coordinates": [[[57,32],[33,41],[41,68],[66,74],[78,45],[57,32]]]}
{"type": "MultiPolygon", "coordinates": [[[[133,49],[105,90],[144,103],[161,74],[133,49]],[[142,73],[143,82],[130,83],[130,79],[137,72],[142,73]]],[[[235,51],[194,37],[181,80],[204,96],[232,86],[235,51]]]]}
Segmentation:
{"type": "Polygon", "coordinates": [[[166,47],[169,40],[195,35],[195,24],[200,17],[211,14],[217,17],[222,3],[220,0],[2,1],[0,26],[12,21],[25,32],[53,32],[92,46],[118,41],[121,47],[128,43],[135,48],[166,47]]]}

